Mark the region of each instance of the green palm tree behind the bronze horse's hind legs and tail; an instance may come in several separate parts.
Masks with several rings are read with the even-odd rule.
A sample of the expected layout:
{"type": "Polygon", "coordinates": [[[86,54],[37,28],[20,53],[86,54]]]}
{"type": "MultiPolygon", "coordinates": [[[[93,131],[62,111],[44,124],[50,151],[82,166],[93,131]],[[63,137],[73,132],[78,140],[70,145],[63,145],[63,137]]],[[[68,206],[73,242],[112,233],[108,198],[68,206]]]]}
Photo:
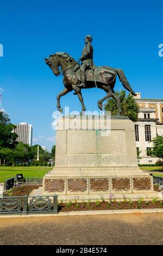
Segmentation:
{"type": "MultiPolygon", "coordinates": [[[[122,113],[126,117],[129,117],[130,120],[136,121],[139,107],[137,106],[133,95],[126,95],[126,90],[121,90],[116,92],[117,96],[120,97],[122,113]]],[[[114,98],[107,100],[105,104],[105,111],[111,111],[111,115],[118,114],[117,102],[114,98]]]]}

